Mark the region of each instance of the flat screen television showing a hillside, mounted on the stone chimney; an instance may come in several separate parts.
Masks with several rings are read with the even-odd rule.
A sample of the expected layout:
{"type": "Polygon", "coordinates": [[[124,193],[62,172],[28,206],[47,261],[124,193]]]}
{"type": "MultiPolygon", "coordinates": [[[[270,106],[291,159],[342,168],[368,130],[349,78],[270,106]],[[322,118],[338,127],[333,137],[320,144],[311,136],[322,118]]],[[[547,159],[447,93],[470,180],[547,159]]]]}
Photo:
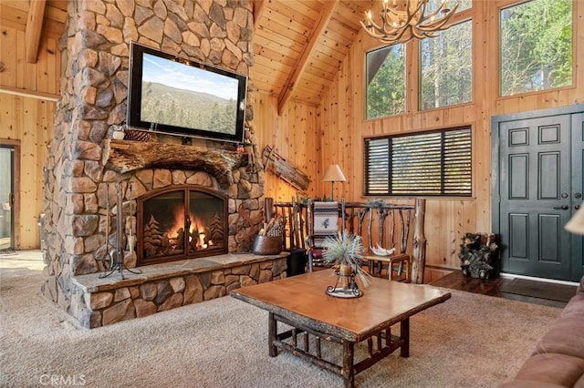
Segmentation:
{"type": "Polygon", "coordinates": [[[132,43],[128,125],[241,142],[246,83],[240,74],[132,43]]]}

